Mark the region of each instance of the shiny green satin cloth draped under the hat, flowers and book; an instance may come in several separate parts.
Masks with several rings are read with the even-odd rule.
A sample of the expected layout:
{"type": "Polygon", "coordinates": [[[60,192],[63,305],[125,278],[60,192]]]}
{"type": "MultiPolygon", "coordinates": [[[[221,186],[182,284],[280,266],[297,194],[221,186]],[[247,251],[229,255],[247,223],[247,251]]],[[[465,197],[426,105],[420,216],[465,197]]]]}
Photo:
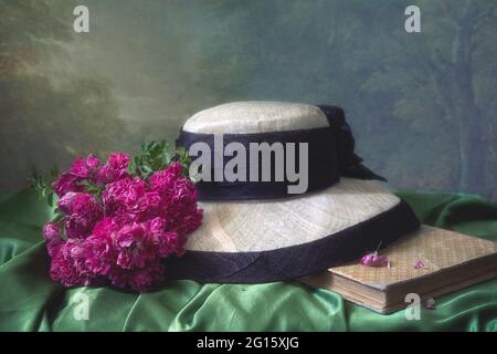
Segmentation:
{"type": "MultiPolygon", "coordinates": [[[[466,195],[400,195],[425,223],[497,240],[494,204],[466,195]]],[[[436,299],[437,309],[422,310],[420,321],[408,321],[403,311],[377,314],[297,282],[176,281],[144,294],[110,288],[66,290],[47,275],[41,226],[49,217],[31,190],[0,198],[1,331],[497,332],[497,280],[436,299]],[[89,300],[88,320],[77,316],[82,294],[89,300]]]]}

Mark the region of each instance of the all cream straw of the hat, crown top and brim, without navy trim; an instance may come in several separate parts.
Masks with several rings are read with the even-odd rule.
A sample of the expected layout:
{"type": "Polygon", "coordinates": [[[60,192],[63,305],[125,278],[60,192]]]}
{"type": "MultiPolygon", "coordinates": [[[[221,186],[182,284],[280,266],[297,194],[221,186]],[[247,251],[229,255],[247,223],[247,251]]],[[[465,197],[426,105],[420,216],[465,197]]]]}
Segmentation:
{"type": "MultiPolygon", "coordinates": [[[[183,129],[202,134],[248,134],[327,127],[316,106],[283,102],[234,102],[201,111],[183,129]]],[[[326,153],[326,152],[324,152],[326,153]]],[[[376,181],[351,178],[294,198],[201,202],[203,223],[187,249],[211,252],[268,251],[334,235],[400,202],[376,181]]]]}

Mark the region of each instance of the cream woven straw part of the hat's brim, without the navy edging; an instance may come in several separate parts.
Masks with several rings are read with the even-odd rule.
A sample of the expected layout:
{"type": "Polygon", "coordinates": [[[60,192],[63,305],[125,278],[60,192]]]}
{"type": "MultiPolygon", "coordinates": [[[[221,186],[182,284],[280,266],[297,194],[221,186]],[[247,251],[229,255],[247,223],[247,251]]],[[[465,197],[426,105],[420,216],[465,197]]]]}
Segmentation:
{"type": "Polygon", "coordinates": [[[306,243],[369,220],[399,202],[379,183],[353,178],[289,199],[201,202],[203,223],[190,235],[187,249],[247,252],[306,243]]]}

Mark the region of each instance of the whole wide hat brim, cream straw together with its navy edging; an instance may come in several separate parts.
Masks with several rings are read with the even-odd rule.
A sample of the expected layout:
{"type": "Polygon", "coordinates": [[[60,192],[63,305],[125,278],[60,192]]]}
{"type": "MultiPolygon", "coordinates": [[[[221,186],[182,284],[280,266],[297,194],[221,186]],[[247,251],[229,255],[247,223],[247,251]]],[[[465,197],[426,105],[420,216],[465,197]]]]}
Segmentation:
{"type": "Polygon", "coordinates": [[[341,178],[319,192],[275,200],[202,202],[204,220],[172,279],[262,283],[299,278],[383,248],[420,227],[376,181],[341,178]]]}

